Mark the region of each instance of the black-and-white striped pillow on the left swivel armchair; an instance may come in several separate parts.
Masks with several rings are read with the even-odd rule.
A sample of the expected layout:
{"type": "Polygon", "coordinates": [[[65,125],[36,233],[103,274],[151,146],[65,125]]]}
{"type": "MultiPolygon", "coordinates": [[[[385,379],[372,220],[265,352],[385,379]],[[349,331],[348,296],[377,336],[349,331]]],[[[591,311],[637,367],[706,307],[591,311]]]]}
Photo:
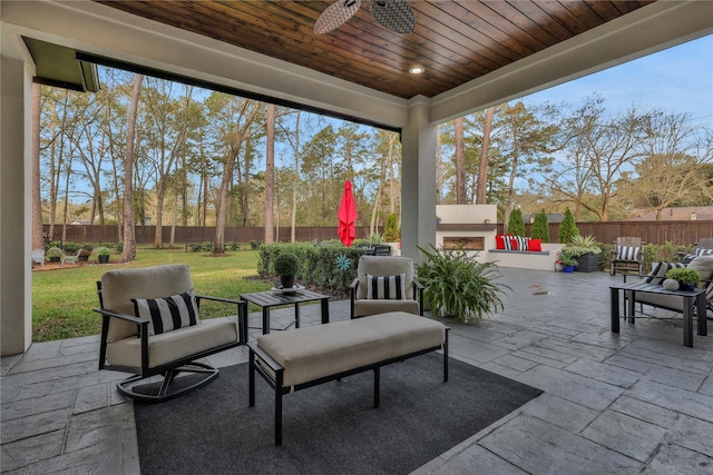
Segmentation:
{"type": "Polygon", "coordinates": [[[150,321],[149,335],[160,335],[201,323],[193,290],[164,298],[133,298],[131,301],[135,315],[150,321]]]}

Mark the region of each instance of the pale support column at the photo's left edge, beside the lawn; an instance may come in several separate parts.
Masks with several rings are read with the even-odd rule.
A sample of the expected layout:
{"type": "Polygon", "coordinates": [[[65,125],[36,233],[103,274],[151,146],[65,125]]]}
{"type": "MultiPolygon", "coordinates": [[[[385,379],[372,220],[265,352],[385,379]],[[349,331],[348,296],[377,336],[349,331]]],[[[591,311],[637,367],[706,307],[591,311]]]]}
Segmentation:
{"type": "MultiPolygon", "coordinates": [[[[3,41],[4,43],[4,41],[3,41]]],[[[0,56],[0,354],[32,343],[31,73],[22,59],[0,56]]]]}

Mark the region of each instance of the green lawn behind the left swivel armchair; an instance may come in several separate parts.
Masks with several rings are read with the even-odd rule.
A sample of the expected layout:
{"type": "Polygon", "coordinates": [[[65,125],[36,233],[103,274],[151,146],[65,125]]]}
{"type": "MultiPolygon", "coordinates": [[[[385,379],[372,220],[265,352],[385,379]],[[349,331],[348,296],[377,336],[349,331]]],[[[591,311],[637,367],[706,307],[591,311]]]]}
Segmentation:
{"type": "MultiPolygon", "coordinates": [[[[111,260],[119,255],[111,255],[111,260]]],[[[237,250],[225,257],[211,257],[206,253],[185,253],[185,249],[141,249],[129,264],[90,264],[74,267],[65,265],[57,270],[32,273],[32,339],[50,342],[98,335],[101,316],[96,281],[107,270],[149,267],[163,264],[187,264],[191,267],[196,294],[224,298],[238,298],[240,294],[267,290],[273,284],[257,279],[257,251],[237,250]]],[[[254,311],[251,308],[251,311],[254,311]]],[[[203,301],[201,318],[234,315],[225,304],[203,301]]]]}

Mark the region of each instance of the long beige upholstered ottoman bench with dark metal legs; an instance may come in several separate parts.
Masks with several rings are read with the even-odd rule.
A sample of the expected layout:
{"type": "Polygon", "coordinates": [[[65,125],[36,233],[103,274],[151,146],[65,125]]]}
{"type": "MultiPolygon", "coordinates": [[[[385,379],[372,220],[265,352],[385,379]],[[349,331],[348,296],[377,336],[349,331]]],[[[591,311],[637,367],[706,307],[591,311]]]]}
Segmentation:
{"type": "Polygon", "coordinates": [[[448,330],[440,321],[404,311],[373,315],[257,337],[250,347],[250,406],[255,372],[275,389],[275,445],[282,444],[282,396],[372,369],[379,407],[380,368],[443,349],[448,380],[448,330]]]}

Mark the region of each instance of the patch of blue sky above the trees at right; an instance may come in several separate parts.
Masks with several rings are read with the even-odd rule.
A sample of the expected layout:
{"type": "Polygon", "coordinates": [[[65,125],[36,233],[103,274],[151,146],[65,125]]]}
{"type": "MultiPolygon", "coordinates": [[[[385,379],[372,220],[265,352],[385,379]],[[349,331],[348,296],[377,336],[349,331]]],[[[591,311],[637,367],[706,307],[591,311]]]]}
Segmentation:
{"type": "Polygon", "coordinates": [[[688,41],[644,58],[522,98],[526,102],[580,103],[598,93],[612,113],[633,103],[691,115],[695,123],[713,123],[713,36],[688,41]]]}

